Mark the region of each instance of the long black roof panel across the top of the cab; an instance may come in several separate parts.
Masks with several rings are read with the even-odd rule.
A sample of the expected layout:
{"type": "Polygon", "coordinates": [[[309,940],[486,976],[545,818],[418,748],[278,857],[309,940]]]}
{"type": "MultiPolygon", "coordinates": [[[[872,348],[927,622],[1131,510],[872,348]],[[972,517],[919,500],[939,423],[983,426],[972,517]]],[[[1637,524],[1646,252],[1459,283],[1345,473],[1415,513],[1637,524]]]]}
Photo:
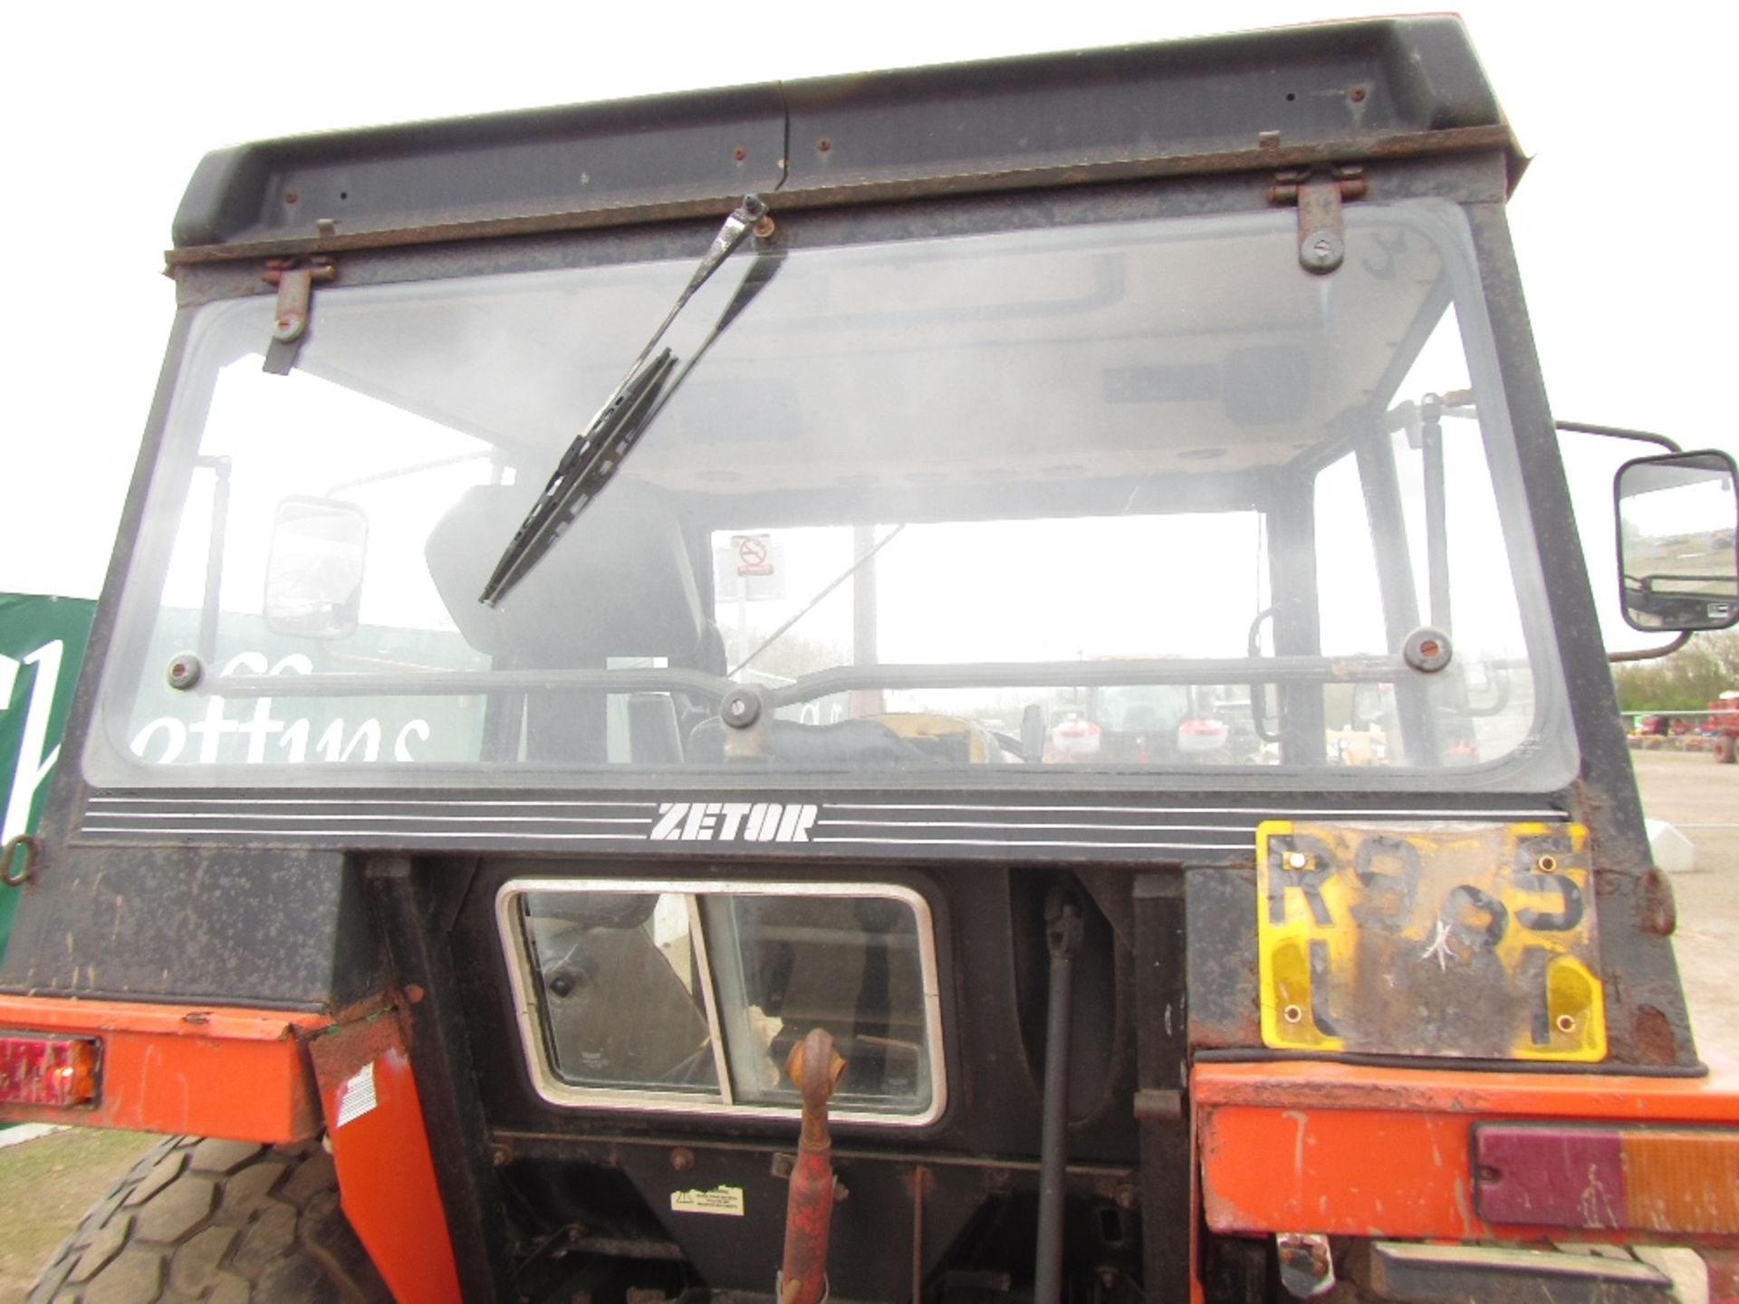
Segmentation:
{"type": "Polygon", "coordinates": [[[795,207],[1351,160],[1445,134],[1513,151],[1459,19],[1329,23],[233,146],[193,174],[170,261],[683,217],[746,191],[795,207]]]}

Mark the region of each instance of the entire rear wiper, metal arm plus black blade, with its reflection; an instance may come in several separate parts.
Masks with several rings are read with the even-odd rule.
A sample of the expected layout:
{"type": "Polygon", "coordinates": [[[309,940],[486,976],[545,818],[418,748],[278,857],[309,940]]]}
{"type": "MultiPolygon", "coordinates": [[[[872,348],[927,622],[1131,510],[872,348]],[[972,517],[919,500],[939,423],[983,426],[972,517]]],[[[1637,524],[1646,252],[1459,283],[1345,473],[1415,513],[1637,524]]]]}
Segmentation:
{"type": "MultiPolygon", "coordinates": [[[[744,195],[743,203],[718,228],[718,235],[713,236],[713,243],[701,257],[701,264],[694,269],[682,294],[676,296],[676,303],[671,304],[657,330],[652,332],[652,339],[640,349],[640,356],[633,360],[628,374],[610,396],[603,400],[603,407],[591,419],[591,424],[567,445],[567,452],[556,462],[550,482],[537,496],[525,520],[520,522],[520,529],[513,532],[513,539],[503,549],[501,560],[496,562],[489,582],[483,584],[483,591],[478,595],[478,602],[485,607],[499,603],[537,565],[543,555],[550,551],[550,546],[562,536],[562,530],[598,496],[598,490],[614,475],[623,457],[633,449],[635,442],[663,407],[659,393],[664,391],[666,381],[670,381],[670,374],[676,367],[676,358],[670,349],[663,349],[657,356],[652,356],[652,349],[657,348],[664,332],[670,330],[670,323],[676,320],[676,315],[694,297],[696,290],[718,271],[718,264],[730,257],[732,250],[743,243],[750,231],[755,230],[755,224],[765,216],[767,205],[762,203],[760,196],[744,195]]],[[[758,278],[753,275],[746,278],[744,289],[748,289],[750,280],[755,282],[753,289],[746,296],[744,289],[737,290],[730,306],[725,308],[723,316],[718,318],[718,325],[706,337],[706,343],[701,344],[696,356],[676,376],[678,384],[694,369],[694,363],[701,360],[701,355],[711,348],[718,334],[748,306],[748,299],[753,299],[770,278],[772,271],[758,278]]],[[[671,384],[670,391],[675,391],[675,388],[671,384]]],[[[670,393],[664,393],[664,398],[668,396],[670,393]]]]}

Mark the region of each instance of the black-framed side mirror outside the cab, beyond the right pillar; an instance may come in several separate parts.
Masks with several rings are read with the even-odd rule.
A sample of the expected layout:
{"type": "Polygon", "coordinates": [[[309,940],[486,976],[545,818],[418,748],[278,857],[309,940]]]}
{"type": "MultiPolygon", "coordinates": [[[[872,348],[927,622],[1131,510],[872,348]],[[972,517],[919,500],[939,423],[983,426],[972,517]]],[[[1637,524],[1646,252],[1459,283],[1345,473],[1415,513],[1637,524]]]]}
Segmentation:
{"type": "Polygon", "coordinates": [[[1636,629],[1739,622],[1739,468],[1725,452],[1640,457],[1619,468],[1619,579],[1636,629]]]}

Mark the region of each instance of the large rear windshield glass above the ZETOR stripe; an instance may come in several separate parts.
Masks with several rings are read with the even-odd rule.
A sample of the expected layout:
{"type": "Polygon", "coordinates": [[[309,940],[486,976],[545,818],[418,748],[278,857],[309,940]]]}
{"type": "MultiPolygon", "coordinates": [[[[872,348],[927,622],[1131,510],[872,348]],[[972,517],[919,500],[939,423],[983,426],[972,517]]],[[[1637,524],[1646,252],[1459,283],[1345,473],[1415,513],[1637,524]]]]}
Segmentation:
{"type": "Polygon", "coordinates": [[[322,289],[290,376],[197,309],[87,772],[1555,782],[1464,221],[1346,223],[1330,276],[1285,214],[746,249],[494,607],[694,263],[322,289]]]}

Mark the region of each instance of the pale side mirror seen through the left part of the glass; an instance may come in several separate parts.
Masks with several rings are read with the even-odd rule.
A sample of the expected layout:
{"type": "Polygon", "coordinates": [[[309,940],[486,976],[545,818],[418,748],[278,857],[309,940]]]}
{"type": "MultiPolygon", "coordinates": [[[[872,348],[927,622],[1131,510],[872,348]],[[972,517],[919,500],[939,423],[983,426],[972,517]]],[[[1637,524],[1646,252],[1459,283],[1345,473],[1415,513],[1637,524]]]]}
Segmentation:
{"type": "Polygon", "coordinates": [[[266,628],[322,640],[356,633],[367,551],[369,516],[356,504],[283,499],[266,562],[266,628]]]}

